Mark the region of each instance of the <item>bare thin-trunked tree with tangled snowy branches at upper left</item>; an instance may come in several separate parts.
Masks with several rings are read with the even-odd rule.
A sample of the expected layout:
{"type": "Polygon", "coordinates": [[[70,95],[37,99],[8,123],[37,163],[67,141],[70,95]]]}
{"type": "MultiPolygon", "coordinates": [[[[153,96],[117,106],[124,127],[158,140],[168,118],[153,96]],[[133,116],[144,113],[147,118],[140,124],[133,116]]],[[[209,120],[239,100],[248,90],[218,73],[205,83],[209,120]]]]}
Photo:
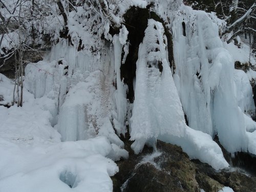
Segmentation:
{"type": "MultiPolygon", "coordinates": [[[[10,2],[0,0],[0,4],[3,7],[3,12],[0,12],[0,48],[2,50],[1,57],[4,59],[4,62],[0,64],[0,68],[5,65],[6,60],[14,57],[15,86],[12,104],[17,103],[17,106],[22,106],[24,67],[29,62],[28,59],[25,59],[25,55],[31,52],[34,55],[40,55],[41,50],[45,49],[44,45],[38,46],[36,38],[41,40],[45,35],[44,30],[46,28],[44,25],[46,21],[44,19],[52,14],[50,12],[51,6],[48,4],[48,0],[40,2],[17,0],[14,4],[7,5],[7,3],[10,2]],[[6,43],[5,45],[2,44],[4,40],[9,44],[8,48],[4,47],[6,43]]],[[[56,5],[55,2],[54,4],[56,5]]]]}

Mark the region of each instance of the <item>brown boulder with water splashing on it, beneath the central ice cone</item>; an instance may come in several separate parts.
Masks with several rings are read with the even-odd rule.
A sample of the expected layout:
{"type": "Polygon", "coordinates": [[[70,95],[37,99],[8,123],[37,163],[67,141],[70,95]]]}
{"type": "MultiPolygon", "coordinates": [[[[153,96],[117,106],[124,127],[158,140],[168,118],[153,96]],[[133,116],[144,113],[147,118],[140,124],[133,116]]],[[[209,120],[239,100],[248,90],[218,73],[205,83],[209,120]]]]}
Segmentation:
{"type": "Polygon", "coordinates": [[[113,178],[114,191],[121,191],[121,186],[115,184],[118,183],[117,180],[124,181],[124,178],[126,180],[122,183],[122,191],[127,192],[199,191],[196,166],[189,161],[181,147],[158,141],[157,150],[162,153],[154,158],[154,162],[139,163],[146,153],[137,157],[137,160],[132,156],[132,160],[117,162],[120,171],[113,178]],[[131,169],[132,167],[134,168],[131,169]]]}

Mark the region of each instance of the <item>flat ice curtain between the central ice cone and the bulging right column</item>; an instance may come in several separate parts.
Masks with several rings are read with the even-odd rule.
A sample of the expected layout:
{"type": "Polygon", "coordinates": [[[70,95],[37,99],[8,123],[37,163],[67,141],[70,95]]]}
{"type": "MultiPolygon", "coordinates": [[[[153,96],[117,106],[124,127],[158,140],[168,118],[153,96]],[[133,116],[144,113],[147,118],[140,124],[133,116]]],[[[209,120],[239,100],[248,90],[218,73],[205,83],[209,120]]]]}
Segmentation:
{"type": "Polygon", "coordinates": [[[210,113],[211,93],[207,85],[208,81],[204,80],[209,71],[209,63],[204,51],[206,46],[202,45],[201,31],[192,26],[196,15],[191,12],[189,8],[183,8],[184,15],[177,16],[173,23],[176,66],[174,79],[189,126],[213,135],[210,113]],[[186,36],[183,35],[183,31],[186,36]]]}

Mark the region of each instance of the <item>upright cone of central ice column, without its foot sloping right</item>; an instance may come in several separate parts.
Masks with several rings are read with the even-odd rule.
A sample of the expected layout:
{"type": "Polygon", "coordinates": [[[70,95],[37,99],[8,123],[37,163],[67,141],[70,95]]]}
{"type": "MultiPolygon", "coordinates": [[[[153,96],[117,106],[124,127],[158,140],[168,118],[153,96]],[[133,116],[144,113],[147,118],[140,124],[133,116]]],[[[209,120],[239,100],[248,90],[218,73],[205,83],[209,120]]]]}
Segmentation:
{"type": "Polygon", "coordinates": [[[136,63],[136,87],[131,118],[132,148],[154,144],[160,135],[183,136],[186,126],[167,60],[167,39],[161,23],[148,20],[136,63]],[[152,143],[153,142],[153,143],[152,143]]]}

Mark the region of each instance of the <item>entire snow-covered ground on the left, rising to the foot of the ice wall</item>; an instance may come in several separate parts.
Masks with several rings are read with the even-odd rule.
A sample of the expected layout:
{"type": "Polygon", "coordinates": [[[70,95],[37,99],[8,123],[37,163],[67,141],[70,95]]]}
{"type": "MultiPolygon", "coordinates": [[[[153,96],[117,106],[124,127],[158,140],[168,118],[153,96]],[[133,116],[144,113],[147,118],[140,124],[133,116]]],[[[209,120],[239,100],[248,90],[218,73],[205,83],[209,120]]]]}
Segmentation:
{"type": "Polygon", "coordinates": [[[22,108],[0,106],[1,191],[112,191],[110,176],[118,172],[113,160],[127,152],[103,136],[60,142],[44,110],[47,100],[24,92],[22,108]]]}

